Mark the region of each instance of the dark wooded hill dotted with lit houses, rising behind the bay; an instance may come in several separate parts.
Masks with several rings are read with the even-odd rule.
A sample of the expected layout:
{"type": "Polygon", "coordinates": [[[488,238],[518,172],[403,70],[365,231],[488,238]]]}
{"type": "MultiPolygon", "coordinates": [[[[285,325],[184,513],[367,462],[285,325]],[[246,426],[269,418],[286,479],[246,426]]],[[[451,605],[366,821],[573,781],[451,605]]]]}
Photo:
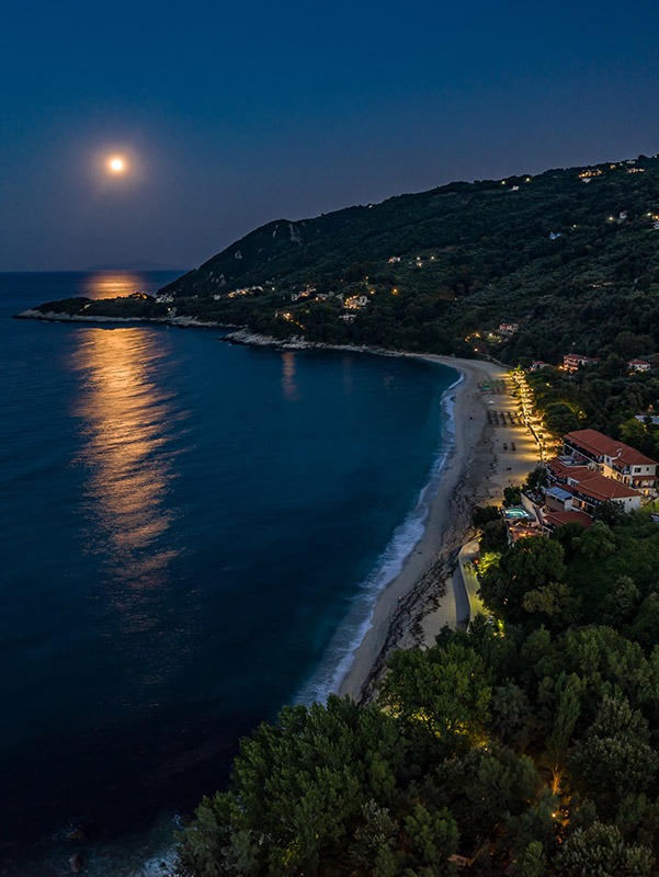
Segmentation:
{"type": "Polygon", "coordinates": [[[279,338],[557,363],[606,355],[625,331],[629,355],[648,355],[658,226],[659,160],[640,156],[273,221],[162,292],[179,312],[279,338]]]}

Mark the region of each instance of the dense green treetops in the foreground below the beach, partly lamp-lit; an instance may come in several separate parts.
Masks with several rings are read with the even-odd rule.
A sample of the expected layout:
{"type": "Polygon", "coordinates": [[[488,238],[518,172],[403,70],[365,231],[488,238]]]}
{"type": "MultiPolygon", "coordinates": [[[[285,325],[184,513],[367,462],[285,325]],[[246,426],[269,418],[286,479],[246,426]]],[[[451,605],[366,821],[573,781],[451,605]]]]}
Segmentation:
{"type": "Polygon", "coordinates": [[[185,877],[650,877],[659,526],[490,557],[480,615],[390,659],[377,702],[287,707],[181,835],[185,877]]]}

